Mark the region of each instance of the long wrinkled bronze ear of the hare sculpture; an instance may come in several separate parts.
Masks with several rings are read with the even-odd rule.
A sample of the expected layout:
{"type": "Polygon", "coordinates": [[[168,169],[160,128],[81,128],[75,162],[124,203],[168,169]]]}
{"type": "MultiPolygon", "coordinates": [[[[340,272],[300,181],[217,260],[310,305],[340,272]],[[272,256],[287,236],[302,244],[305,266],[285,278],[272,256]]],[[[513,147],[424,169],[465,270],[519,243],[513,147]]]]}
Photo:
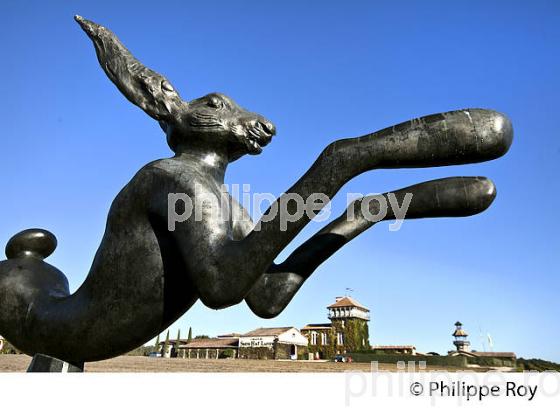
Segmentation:
{"type": "Polygon", "coordinates": [[[142,65],[113,32],[80,16],[74,18],[93,41],[99,64],[130,102],[164,123],[173,122],[187,108],[169,81],[142,65]]]}

